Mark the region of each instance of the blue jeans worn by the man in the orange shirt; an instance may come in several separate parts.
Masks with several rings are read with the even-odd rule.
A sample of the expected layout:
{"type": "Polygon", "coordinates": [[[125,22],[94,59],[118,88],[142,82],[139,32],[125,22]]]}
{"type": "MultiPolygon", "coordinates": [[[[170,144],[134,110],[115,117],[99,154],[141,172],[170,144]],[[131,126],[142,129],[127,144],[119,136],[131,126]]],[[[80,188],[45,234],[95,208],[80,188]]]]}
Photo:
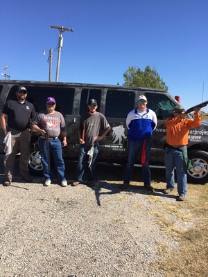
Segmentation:
{"type": "MultiPolygon", "coordinates": [[[[186,150],[187,146],[180,149],[186,150]]],[[[164,162],[166,166],[166,188],[173,190],[175,185],[174,168],[176,168],[177,192],[179,195],[187,195],[187,172],[184,170],[182,152],[166,147],[164,150],[164,162]]]]}

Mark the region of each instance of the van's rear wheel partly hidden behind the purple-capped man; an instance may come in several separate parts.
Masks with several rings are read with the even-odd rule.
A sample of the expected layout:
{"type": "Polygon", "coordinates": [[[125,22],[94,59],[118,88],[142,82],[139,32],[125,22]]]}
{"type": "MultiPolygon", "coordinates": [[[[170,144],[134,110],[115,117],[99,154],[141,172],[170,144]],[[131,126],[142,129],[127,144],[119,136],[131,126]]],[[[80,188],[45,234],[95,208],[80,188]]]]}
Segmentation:
{"type": "Polygon", "coordinates": [[[28,170],[31,175],[43,175],[40,151],[35,151],[34,148],[31,149],[28,157],[28,170]]]}

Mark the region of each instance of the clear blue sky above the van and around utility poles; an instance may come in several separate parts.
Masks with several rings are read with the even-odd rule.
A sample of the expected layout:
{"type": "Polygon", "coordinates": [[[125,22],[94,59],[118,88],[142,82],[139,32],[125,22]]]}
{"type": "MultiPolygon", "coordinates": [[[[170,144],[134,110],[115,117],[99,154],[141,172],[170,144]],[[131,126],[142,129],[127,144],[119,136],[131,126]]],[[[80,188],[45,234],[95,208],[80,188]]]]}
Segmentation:
{"type": "Polygon", "coordinates": [[[0,70],[10,80],[49,80],[53,48],[55,81],[51,24],[64,26],[74,31],[63,33],[60,82],[123,84],[128,66],[150,65],[188,108],[208,100],[207,10],[207,0],[4,1],[0,70]]]}

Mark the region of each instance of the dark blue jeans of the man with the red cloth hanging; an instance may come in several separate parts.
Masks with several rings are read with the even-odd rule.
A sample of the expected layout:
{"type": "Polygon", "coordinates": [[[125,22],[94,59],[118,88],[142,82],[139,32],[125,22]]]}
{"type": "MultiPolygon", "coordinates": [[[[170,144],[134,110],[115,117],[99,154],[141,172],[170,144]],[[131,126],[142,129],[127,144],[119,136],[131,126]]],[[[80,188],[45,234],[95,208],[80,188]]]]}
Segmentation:
{"type": "MultiPolygon", "coordinates": [[[[135,160],[137,155],[141,156],[143,141],[128,141],[128,163],[125,168],[124,184],[130,183],[130,177],[134,169],[135,160]]],[[[144,180],[144,186],[150,186],[150,159],[151,140],[146,139],[146,164],[142,166],[142,177],[144,180]]]]}

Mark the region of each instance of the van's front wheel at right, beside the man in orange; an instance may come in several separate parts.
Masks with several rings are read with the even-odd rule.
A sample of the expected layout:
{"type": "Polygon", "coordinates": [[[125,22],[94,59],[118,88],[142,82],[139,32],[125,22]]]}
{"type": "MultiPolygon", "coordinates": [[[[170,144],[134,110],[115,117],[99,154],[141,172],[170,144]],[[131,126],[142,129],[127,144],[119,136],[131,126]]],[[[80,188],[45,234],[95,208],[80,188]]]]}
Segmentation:
{"type": "Polygon", "coordinates": [[[189,152],[189,159],[194,161],[191,170],[187,170],[187,178],[192,183],[205,184],[208,181],[208,153],[201,150],[189,152]]]}

